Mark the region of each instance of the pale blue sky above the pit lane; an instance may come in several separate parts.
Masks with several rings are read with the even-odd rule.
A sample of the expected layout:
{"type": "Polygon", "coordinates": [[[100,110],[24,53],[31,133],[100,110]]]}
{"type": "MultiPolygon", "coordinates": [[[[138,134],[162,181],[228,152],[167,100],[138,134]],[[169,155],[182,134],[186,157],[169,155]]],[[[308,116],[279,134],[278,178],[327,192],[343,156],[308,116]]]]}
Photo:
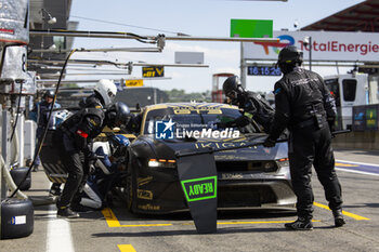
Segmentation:
{"type": "MultiPolygon", "coordinates": [[[[156,36],[158,34],[174,36],[174,32],[183,32],[195,37],[228,37],[232,18],[272,19],[274,30],[282,28],[295,30],[295,22],[298,22],[298,28],[301,28],[360,2],[363,2],[363,0],[288,0],[288,2],[236,0],[74,0],[70,21],[79,22],[78,29],[80,30],[126,31],[148,36],[156,36]],[[81,17],[117,24],[89,21],[81,17]],[[145,29],[139,27],[145,27],[145,29]]],[[[146,47],[146,44],[131,40],[84,38],[76,38],[74,44],[74,48],[86,49],[110,47],[146,47]]],[[[237,42],[167,41],[162,53],[78,52],[73,55],[73,58],[106,59],[121,63],[142,61],[146,63],[173,64],[174,52],[204,52],[205,64],[209,65],[209,68],[167,67],[165,68],[165,76],[170,77],[170,80],[144,81],[144,84],[162,90],[175,88],[184,89],[187,92],[205,92],[206,90],[211,90],[213,74],[226,71],[239,75],[239,48],[240,45],[237,42]]],[[[337,69],[332,67],[314,67],[313,70],[324,76],[337,74],[337,69]]],[[[115,79],[138,78],[141,75],[141,67],[134,67],[131,76],[115,76],[115,79]]],[[[277,77],[248,77],[247,89],[253,91],[272,91],[277,79],[277,77]]]]}

